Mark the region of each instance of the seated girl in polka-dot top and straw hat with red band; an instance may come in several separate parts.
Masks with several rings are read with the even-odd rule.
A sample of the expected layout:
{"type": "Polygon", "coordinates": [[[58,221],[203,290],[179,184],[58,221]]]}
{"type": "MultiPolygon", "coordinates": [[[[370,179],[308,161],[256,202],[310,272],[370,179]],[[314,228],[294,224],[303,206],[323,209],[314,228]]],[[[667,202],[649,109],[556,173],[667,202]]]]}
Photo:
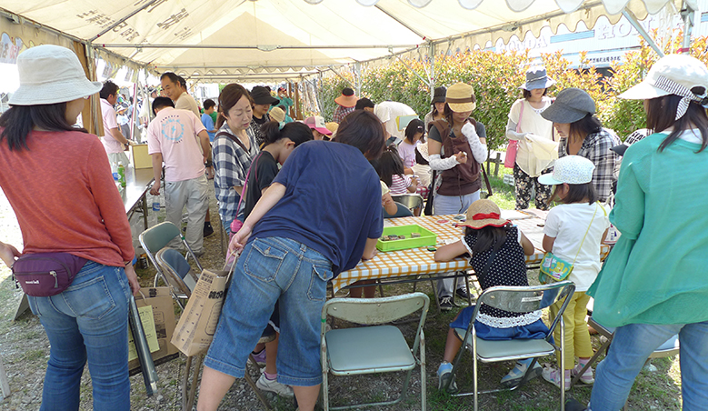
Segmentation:
{"type": "MultiPolygon", "coordinates": [[[[475,201],[467,210],[467,220],[461,226],[467,227],[464,237],[456,243],[438,248],[435,261],[449,261],[469,254],[470,264],[477,273],[483,290],[491,286],[529,285],[524,255],[533,254],[533,245],[517,227],[501,218],[499,206],[491,200],[475,201]],[[488,264],[490,256],[493,256],[493,260],[488,264]],[[485,268],[486,273],[483,273],[485,268]]],[[[443,389],[452,377],[453,365],[450,362],[462,346],[462,340],[454,332],[454,328],[467,328],[473,312],[474,306],[464,308],[450,324],[444,361],[437,371],[438,389],[443,389]]],[[[541,320],[540,310],[532,313],[510,313],[491,306],[482,306],[474,322],[474,330],[478,337],[487,340],[540,339],[548,335],[548,327],[541,320]]],[[[502,385],[510,387],[518,384],[531,362],[531,358],[519,360],[502,378],[502,385]]],[[[539,376],[541,371],[542,367],[535,363],[530,377],[539,376]]],[[[453,382],[450,391],[456,390],[453,382]]]]}

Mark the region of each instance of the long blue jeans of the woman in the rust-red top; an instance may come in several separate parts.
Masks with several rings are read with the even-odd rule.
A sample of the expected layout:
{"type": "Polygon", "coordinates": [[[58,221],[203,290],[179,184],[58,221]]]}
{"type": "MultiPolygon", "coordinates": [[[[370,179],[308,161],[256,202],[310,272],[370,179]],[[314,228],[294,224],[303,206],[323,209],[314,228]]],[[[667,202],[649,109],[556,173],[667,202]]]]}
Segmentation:
{"type": "Polygon", "coordinates": [[[128,298],[122,267],[86,263],[56,296],[29,296],[51,349],[42,411],[78,410],[86,359],[94,386],[94,409],[130,410],[128,298]]]}

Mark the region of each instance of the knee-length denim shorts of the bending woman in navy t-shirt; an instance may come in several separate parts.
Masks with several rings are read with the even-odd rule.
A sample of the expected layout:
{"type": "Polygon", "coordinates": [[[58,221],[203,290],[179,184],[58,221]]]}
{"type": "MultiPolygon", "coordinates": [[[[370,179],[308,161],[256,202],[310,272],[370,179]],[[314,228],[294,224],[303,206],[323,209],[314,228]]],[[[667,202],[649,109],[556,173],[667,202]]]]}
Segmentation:
{"type": "Polygon", "coordinates": [[[320,316],[333,276],[332,263],[312,248],[288,238],[255,238],[236,264],[204,365],[244,376],[246,359],[280,300],[278,381],[321,384],[320,316]]]}

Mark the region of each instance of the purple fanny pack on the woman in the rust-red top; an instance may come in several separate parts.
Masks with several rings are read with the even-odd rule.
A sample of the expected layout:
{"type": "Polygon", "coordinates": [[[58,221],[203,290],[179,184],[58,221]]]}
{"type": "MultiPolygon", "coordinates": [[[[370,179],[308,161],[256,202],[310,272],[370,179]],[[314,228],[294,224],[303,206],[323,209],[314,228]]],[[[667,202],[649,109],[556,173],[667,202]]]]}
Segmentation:
{"type": "Polygon", "coordinates": [[[27,296],[55,296],[71,286],[87,261],[68,253],[27,254],[15,261],[13,276],[27,296]]]}

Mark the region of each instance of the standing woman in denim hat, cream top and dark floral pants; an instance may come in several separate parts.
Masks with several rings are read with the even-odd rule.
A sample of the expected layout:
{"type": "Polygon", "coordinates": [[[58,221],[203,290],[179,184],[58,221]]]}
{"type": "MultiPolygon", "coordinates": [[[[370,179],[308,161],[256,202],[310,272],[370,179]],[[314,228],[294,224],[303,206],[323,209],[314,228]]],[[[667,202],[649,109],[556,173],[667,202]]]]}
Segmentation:
{"type": "Polygon", "coordinates": [[[543,66],[531,67],[526,72],[526,82],[519,87],[524,90],[524,98],[516,100],[509,111],[506,138],[510,145],[516,145],[517,150],[513,165],[517,210],[529,207],[532,190],[536,193],[536,208],[547,210],[549,206],[551,187],[540,184],[538,176],[552,165],[553,160],[537,158],[532,145],[536,138],[553,141],[553,123],[544,119],[541,113],[552,103],[546,93],[554,84],[543,66]]]}

